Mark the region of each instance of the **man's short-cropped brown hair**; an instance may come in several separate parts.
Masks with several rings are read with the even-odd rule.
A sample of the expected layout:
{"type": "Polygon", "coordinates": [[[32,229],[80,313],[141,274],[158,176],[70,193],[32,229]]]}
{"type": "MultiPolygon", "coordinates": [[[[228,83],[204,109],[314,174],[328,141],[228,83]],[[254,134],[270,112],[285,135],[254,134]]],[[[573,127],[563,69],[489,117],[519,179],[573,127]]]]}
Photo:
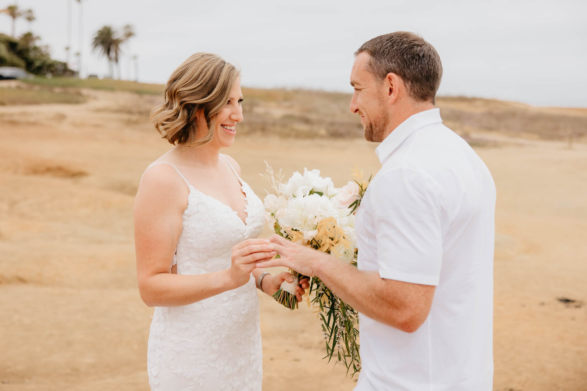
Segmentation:
{"type": "Polygon", "coordinates": [[[380,35],[363,43],[355,56],[367,52],[373,76],[383,79],[395,73],[406,83],[416,100],[436,103],[436,91],[442,78],[442,63],[434,46],[407,31],[380,35]]]}

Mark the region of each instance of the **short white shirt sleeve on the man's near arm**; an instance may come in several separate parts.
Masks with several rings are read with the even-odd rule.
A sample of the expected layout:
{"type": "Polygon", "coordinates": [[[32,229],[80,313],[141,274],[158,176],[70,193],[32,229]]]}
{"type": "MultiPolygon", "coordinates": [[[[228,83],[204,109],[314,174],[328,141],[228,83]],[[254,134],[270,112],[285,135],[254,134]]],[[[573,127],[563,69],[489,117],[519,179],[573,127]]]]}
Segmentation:
{"type": "Polygon", "coordinates": [[[443,257],[442,202],[437,186],[406,168],[375,183],[373,210],[379,276],[438,285],[443,257]]]}

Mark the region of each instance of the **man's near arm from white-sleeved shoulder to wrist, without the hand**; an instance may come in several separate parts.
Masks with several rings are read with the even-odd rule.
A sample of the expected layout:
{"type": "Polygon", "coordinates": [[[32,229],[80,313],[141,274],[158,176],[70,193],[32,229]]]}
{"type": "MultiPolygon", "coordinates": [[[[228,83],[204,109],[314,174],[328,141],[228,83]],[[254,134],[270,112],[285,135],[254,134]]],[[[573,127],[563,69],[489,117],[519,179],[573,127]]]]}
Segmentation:
{"type": "Polygon", "coordinates": [[[440,281],[443,198],[428,176],[406,168],[380,173],[368,191],[361,220],[370,232],[362,230],[367,244],[359,247],[359,258],[375,253],[364,264],[376,270],[339,267],[325,258],[316,274],[363,314],[413,332],[426,321],[440,281]]]}

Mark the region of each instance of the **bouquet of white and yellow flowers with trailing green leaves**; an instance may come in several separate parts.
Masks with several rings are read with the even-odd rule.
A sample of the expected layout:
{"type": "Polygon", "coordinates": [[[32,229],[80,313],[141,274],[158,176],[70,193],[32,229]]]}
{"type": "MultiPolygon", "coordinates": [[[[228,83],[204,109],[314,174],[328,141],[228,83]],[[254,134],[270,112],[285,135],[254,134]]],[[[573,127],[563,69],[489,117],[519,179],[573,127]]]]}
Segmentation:
{"type": "MultiPolygon", "coordinates": [[[[353,181],[342,188],[335,188],[330,178],[322,178],[320,171],[304,169],[303,174],[294,172],[287,182],[279,170],[265,162],[265,179],[275,194],[268,193],[264,204],[266,220],[275,233],[306,247],[332,254],[343,263],[356,266],[357,242],[355,215],[353,214],[365,194],[368,180],[363,172],[353,170],[353,181]]],[[[338,361],[345,363],[352,375],[360,370],[359,344],[356,329],[358,314],[352,307],[333,293],[318,277],[302,276],[291,270],[294,282],[284,281],[274,294],[276,301],[286,308],[298,308],[295,288],[303,278],[310,279],[308,305],[317,309],[326,341],[326,357],[329,361],[335,353],[338,361]]]]}

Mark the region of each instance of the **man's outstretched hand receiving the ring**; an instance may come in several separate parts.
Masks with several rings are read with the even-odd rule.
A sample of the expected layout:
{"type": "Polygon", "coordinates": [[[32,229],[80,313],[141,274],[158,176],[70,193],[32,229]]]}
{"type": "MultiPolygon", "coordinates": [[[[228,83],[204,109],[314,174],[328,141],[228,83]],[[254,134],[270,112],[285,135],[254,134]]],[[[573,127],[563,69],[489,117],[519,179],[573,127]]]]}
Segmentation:
{"type": "Polygon", "coordinates": [[[328,257],[320,251],[292,243],[278,234],[274,234],[269,240],[280,258],[259,262],[257,267],[285,266],[304,276],[312,277],[316,276],[318,262],[323,260],[323,257],[328,257]]]}

